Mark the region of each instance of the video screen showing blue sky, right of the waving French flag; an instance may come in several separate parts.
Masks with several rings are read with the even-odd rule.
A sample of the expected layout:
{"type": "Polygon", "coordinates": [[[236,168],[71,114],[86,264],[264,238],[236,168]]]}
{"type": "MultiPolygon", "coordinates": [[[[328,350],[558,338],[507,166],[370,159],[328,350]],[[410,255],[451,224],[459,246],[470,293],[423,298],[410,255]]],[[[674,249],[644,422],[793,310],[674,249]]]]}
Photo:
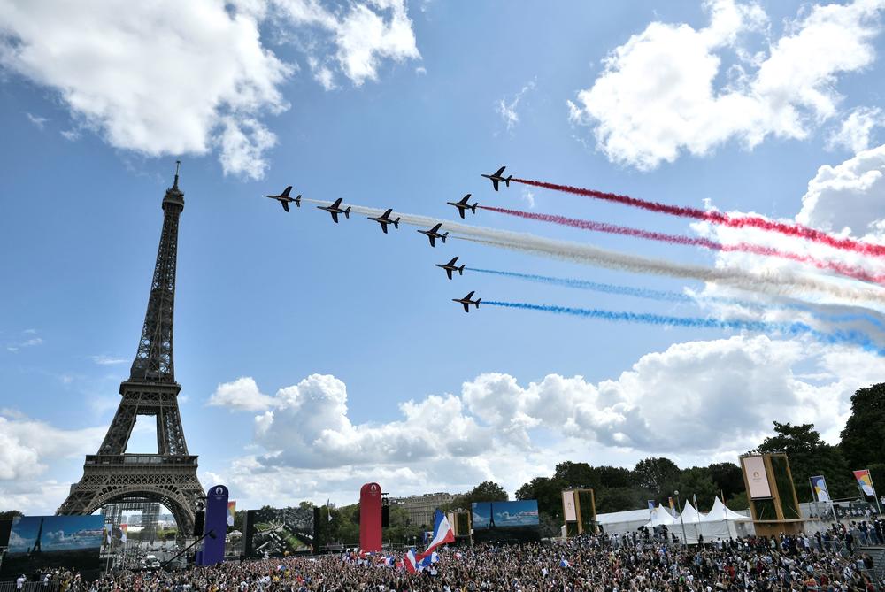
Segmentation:
{"type": "Polygon", "coordinates": [[[538,541],[537,500],[471,504],[473,542],[538,541]]]}

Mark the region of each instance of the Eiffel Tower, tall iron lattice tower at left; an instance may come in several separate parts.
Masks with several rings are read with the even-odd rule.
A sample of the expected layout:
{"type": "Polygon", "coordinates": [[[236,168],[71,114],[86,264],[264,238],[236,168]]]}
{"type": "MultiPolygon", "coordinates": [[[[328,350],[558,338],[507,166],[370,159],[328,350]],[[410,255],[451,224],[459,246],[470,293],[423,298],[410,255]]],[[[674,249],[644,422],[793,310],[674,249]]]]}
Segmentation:
{"type": "Polygon", "coordinates": [[[196,456],[188,454],[184,440],[178,411],[181,385],[175,382],[173,365],[178,219],[184,210],[184,194],[178,188],[180,164],[176,163],[175,181],[163,198],[163,230],[148,311],[129,379],[119,385],[123,398],[98,454],[86,457],[81,480],[71,486],[57,513],[91,514],[127,499],[158,502],[172,511],[179,536],[188,537],[204,490],[196,478],[196,456]],[[140,415],[157,420],[157,454],[126,453],[140,415]]]}

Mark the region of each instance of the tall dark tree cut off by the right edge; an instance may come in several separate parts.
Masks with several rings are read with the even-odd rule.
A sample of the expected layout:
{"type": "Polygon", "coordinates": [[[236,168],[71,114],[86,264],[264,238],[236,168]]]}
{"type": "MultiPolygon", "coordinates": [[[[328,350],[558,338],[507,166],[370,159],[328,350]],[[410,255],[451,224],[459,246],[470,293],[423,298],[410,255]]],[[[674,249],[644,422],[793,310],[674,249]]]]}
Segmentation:
{"type": "MultiPolygon", "coordinates": [[[[842,450],[850,469],[885,459],[885,383],[859,388],[851,396],[851,415],[842,431],[842,450]]],[[[878,491],[878,489],[876,489],[878,491]]]]}

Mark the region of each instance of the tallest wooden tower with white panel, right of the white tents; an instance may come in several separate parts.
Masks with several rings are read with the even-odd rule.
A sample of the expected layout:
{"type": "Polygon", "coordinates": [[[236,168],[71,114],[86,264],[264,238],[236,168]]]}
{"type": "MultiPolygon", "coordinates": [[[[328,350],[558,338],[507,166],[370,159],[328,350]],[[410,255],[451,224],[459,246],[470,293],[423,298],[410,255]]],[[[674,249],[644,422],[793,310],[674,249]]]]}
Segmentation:
{"type": "Polygon", "coordinates": [[[744,455],[741,468],[756,534],[801,532],[802,513],[787,455],[782,452],[744,455]]]}

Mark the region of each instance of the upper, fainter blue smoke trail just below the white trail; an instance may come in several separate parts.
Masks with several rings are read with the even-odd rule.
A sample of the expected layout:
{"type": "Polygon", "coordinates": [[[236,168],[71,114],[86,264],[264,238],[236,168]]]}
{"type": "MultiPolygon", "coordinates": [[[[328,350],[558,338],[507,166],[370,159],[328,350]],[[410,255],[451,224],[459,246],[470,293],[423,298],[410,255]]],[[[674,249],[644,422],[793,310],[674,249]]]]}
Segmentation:
{"type": "Polygon", "coordinates": [[[467,271],[477,273],[491,273],[494,275],[502,275],[504,277],[516,278],[519,280],[535,281],[539,283],[550,284],[554,286],[564,286],[566,288],[578,288],[585,290],[593,290],[594,292],[602,292],[604,294],[617,294],[620,296],[635,296],[637,298],[645,298],[648,300],[658,300],[661,302],[696,304],[698,300],[714,302],[719,304],[728,304],[732,306],[743,306],[755,311],[766,311],[768,309],[785,309],[793,311],[802,311],[812,314],[814,317],[835,323],[850,323],[856,321],[866,321],[871,325],[885,330],[885,322],[877,319],[871,314],[865,313],[844,313],[844,314],[827,314],[820,312],[812,306],[798,303],[778,303],[778,304],[758,304],[740,298],[727,298],[723,296],[689,296],[681,292],[673,292],[670,290],[656,290],[650,288],[633,288],[632,286],[619,286],[617,284],[605,284],[597,281],[578,280],[574,278],[557,278],[550,275],[535,275],[534,273],[517,273],[504,272],[497,269],[482,269],[480,267],[466,267],[467,271]]]}

